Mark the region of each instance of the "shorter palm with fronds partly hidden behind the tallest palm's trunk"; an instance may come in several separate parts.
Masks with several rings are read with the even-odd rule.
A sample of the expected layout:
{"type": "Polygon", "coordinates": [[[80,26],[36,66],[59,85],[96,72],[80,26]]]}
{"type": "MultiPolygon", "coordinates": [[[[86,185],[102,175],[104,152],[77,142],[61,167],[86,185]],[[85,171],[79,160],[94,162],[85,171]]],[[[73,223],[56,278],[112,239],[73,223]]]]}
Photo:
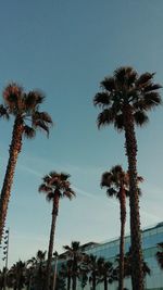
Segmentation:
{"type": "MultiPolygon", "coordinates": [[[[141,176],[137,177],[142,181],[141,176]]],[[[120,277],[118,290],[124,289],[124,242],[125,242],[125,223],[126,223],[126,197],[129,197],[129,175],[124,172],[121,165],[113,166],[110,172],[105,172],[101,177],[101,187],[106,188],[109,198],[115,197],[120,201],[121,213],[121,238],[120,238],[120,277]]],[[[138,188],[139,194],[141,193],[138,188]]]]}

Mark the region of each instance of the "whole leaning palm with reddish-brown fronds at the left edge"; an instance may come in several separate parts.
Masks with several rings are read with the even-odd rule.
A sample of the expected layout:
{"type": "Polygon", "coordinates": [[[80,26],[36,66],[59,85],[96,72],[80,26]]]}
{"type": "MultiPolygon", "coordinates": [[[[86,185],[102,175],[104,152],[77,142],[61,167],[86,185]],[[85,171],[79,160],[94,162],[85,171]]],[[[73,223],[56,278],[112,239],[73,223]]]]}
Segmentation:
{"type": "Polygon", "coordinates": [[[45,97],[39,91],[24,92],[16,84],[10,84],[3,91],[4,104],[0,105],[0,116],[12,115],[14,126],[12,141],[9,150],[9,162],[0,196],[0,241],[2,239],[11,187],[18,154],[22,150],[23,136],[34,138],[38,128],[49,135],[49,125],[52,124],[50,115],[40,112],[39,106],[45,97]]]}

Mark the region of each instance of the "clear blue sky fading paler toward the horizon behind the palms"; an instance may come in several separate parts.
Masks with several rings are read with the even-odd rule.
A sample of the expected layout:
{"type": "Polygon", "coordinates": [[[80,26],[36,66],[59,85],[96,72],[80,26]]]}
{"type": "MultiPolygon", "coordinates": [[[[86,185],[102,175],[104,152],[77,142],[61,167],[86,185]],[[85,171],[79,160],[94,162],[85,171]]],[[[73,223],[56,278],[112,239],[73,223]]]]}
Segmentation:
{"type": "MultiPolygon", "coordinates": [[[[101,174],[127,168],[124,135],[97,129],[92,98],[104,76],[121,65],[156,72],[163,84],[163,1],[0,0],[0,91],[9,81],[39,88],[43,111],[53,118],[50,138],[24,140],[7,225],[10,265],[27,260],[49,241],[51,204],[38,193],[50,171],[71,174],[76,199],[62,200],[55,250],[72,240],[104,241],[120,235],[118,203],[100,189],[101,174]]],[[[163,220],[163,108],[137,130],[138,172],[146,181],[140,201],[142,227],[163,220]]],[[[0,121],[2,184],[13,121],[0,121]]],[[[127,220],[127,231],[129,230],[127,220]]],[[[0,257],[1,260],[1,257],[0,257]]],[[[2,261],[0,262],[1,266],[2,261]]]]}

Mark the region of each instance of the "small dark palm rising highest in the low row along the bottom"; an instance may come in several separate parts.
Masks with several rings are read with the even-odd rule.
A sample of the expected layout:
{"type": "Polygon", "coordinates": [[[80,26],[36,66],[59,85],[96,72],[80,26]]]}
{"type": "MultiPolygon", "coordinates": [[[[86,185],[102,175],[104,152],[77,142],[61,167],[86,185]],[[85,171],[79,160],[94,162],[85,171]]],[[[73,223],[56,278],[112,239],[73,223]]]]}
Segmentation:
{"type": "Polygon", "coordinates": [[[71,247],[64,245],[64,250],[72,261],[72,290],[76,290],[77,277],[79,276],[79,262],[82,261],[82,251],[78,241],[72,241],[71,247]]]}

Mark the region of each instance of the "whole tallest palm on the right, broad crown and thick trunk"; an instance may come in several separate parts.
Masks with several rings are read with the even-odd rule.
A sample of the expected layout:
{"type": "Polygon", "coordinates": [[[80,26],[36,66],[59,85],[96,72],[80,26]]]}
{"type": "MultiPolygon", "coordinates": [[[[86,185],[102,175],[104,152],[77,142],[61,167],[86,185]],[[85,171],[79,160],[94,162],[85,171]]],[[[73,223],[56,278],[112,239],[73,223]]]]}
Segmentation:
{"type": "Polygon", "coordinates": [[[98,127],[113,124],[115,129],[125,133],[125,149],[129,173],[130,236],[133,252],[131,283],[134,290],[142,290],[142,250],[140,236],[139,197],[137,188],[137,140],[135,125],[148,122],[147,111],[161,103],[158,89],[153,84],[154,74],[138,75],[129,66],[115,70],[112,77],[101,81],[102,91],[95,96],[93,103],[101,108],[98,127]]]}

